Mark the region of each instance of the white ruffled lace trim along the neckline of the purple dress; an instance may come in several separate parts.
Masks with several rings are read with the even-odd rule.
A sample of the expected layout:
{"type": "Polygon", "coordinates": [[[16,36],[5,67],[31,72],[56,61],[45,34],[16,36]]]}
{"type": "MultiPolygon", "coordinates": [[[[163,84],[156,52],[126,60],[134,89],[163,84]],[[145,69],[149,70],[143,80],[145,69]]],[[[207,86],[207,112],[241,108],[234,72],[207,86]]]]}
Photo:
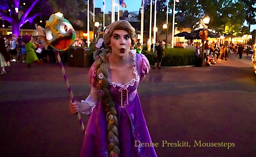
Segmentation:
{"type": "MultiPolygon", "coordinates": [[[[129,86],[134,86],[134,82],[140,82],[140,76],[139,76],[139,74],[138,74],[138,69],[137,69],[137,64],[136,64],[136,50],[135,49],[133,49],[133,50],[130,50],[131,52],[132,52],[132,55],[133,55],[133,62],[132,62],[132,65],[134,66],[134,67],[132,67],[132,69],[133,69],[133,73],[135,74],[135,78],[133,78],[131,81],[129,81],[128,83],[126,83],[126,84],[119,84],[119,83],[115,83],[115,82],[111,82],[111,80],[109,79],[109,76],[108,76],[108,82],[109,82],[109,84],[111,84],[113,87],[116,87],[116,86],[118,86],[118,87],[121,87],[121,88],[123,88],[124,90],[126,89],[126,88],[128,88],[129,86]]],[[[109,64],[108,64],[108,69],[109,69],[109,64]]]]}

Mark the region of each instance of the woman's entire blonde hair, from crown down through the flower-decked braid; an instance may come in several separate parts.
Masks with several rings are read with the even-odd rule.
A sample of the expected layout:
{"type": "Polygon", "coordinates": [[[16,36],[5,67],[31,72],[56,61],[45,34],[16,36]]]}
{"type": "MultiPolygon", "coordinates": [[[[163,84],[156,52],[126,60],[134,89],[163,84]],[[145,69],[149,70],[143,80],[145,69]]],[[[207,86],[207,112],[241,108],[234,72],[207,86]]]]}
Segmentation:
{"type": "MultiPolygon", "coordinates": [[[[106,119],[107,119],[107,132],[108,132],[108,155],[112,157],[114,153],[118,156],[120,155],[120,149],[118,148],[119,140],[118,140],[118,118],[117,112],[115,108],[115,102],[112,100],[110,96],[110,92],[108,90],[109,82],[108,82],[108,57],[107,54],[111,52],[111,47],[108,46],[110,43],[110,38],[112,33],[115,30],[125,30],[131,37],[132,44],[131,48],[134,47],[136,41],[136,34],[134,28],[131,24],[125,20],[119,20],[116,22],[111,23],[107,27],[107,33],[104,33],[104,42],[105,45],[108,47],[107,49],[99,49],[93,53],[93,58],[95,60],[95,68],[97,70],[97,78],[98,78],[98,90],[103,91],[103,95],[100,94],[100,99],[102,99],[103,104],[105,105],[105,112],[106,112],[106,119]],[[104,77],[102,79],[99,78],[100,74],[103,74],[104,77]],[[110,116],[109,118],[109,115],[110,116]]],[[[101,92],[102,92],[101,91],[101,92]]]]}

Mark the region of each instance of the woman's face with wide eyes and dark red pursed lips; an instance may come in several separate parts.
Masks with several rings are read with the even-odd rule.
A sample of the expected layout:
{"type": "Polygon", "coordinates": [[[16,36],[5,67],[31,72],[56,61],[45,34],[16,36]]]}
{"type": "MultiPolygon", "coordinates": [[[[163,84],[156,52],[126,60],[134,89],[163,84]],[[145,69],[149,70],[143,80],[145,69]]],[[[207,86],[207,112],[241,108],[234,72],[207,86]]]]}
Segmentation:
{"type": "Polygon", "coordinates": [[[125,56],[130,51],[132,40],[130,35],[125,30],[115,30],[110,38],[112,54],[120,57],[125,56]]]}

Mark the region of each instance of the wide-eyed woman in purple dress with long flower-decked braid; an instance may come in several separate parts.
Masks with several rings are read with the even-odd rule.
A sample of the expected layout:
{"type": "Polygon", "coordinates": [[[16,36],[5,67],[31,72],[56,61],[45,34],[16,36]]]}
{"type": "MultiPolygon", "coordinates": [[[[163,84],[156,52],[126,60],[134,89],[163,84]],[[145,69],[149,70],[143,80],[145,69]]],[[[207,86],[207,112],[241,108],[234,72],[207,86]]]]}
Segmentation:
{"type": "Polygon", "coordinates": [[[137,93],[150,70],[147,58],[131,50],[135,29],[125,20],[111,23],[104,32],[108,49],[93,54],[89,71],[91,93],[81,103],[70,103],[70,112],[91,114],[81,156],[155,157],[137,93]],[[93,111],[93,112],[92,112],[93,111]],[[136,142],[136,145],[135,145],[136,142]],[[148,143],[142,147],[140,143],[148,143]]]}

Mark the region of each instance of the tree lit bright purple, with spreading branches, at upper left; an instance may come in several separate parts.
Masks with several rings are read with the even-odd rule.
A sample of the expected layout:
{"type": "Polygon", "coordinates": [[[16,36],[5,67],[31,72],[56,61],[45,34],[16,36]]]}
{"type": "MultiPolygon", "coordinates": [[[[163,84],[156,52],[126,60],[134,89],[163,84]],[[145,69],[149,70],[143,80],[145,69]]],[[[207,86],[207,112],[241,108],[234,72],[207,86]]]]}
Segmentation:
{"type": "Polygon", "coordinates": [[[52,9],[46,0],[0,0],[0,3],[0,15],[12,24],[12,34],[15,35],[20,34],[20,27],[26,22],[32,23],[34,18],[41,14],[49,14],[52,9]],[[26,3],[26,5],[23,5],[23,3],[26,3]],[[19,13],[15,11],[15,8],[18,8],[19,13]]]}

